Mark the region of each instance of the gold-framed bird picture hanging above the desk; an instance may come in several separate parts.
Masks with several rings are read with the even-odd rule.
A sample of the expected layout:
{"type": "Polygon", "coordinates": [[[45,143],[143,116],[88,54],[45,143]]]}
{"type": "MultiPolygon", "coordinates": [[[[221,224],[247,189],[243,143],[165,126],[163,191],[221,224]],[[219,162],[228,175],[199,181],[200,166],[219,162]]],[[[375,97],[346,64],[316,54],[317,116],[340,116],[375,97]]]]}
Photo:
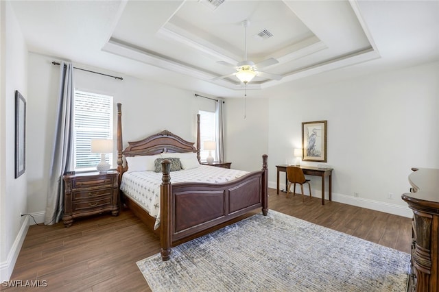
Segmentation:
{"type": "Polygon", "coordinates": [[[327,121],[302,123],[302,161],[327,162],[327,121]]]}

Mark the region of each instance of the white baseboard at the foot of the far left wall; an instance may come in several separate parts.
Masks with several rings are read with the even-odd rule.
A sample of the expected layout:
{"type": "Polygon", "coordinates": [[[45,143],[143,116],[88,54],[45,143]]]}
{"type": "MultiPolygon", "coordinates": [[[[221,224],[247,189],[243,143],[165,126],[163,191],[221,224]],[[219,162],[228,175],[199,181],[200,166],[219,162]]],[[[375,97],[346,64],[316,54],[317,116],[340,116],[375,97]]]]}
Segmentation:
{"type": "Polygon", "coordinates": [[[25,216],[19,234],[17,234],[14,244],[8,254],[8,258],[5,262],[0,263],[0,282],[8,281],[11,278],[12,271],[14,271],[16,259],[19,258],[19,253],[23,241],[25,240],[27,230],[29,229],[29,216],[25,216]]]}

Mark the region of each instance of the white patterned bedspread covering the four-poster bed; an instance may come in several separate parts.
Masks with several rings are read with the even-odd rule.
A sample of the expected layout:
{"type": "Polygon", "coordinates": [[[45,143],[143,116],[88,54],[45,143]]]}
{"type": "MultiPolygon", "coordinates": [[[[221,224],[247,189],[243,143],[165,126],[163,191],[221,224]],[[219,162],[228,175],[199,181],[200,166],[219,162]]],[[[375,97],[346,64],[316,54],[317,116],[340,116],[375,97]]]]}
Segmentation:
{"type": "MultiPolygon", "coordinates": [[[[210,182],[220,183],[235,180],[248,171],[224,169],[200,165],[195,169],[172,171],[171,184],[176,182],[210,182]]],[[[162,173],[154,171],[133,171],[123,173],[121,191],[143,207],[152,217],[156,218],[154,229],[160,225],[160,185],[162,173]]]]}

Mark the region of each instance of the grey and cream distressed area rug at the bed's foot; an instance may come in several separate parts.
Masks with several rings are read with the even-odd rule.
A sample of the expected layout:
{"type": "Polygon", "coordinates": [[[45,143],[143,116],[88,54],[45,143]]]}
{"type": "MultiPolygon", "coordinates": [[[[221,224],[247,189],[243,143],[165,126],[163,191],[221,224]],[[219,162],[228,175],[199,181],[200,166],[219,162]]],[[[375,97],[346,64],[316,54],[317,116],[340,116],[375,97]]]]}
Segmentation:
{"type": "Polygon", "coordinates": [[[410,254],[270,210],[137,262],[152,291],[405,291],[410,254]]]}

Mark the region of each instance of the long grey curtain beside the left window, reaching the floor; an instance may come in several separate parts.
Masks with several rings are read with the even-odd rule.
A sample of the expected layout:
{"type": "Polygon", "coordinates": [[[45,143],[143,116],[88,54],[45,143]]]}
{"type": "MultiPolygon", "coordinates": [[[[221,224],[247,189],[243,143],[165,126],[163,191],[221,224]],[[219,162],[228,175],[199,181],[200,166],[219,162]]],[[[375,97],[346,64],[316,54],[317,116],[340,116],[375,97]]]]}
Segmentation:
{"type": "Polygon", "coordinates": [[[47,206],[45,224],[58,223],[64,211],[64,180],[62,175],[70,170],[71,146],[73,143],[72,109],[73,95],[73,64],[61,62],[60,89],[58,92],[58,114],[56,131],[52,148],[52,159],[47,187],[47,206]]]}

